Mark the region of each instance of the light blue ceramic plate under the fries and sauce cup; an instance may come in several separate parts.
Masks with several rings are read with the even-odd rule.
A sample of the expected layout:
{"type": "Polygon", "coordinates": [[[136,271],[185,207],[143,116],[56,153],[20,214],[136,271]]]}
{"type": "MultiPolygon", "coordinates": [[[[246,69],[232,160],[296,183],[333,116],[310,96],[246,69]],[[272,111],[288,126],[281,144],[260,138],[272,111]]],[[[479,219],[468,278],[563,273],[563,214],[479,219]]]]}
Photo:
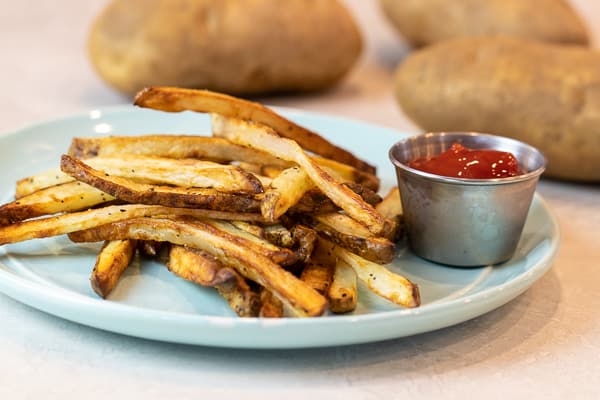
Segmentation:
{"type": "MultiPolygon", "coordinates": [[[[406,135],[326,115],[283,112],[377,165],[382,192],[395,184],[388,149],[406,135]]],[[[12,198],[18,178],[58,166],[73,136],[207,134],[209,128],[207,116],[201,114],[124,107],[94,110],[3,135],[0,200],[12,198]]],[[[65,237],[1,247],[0,290],[50,314],[142,338],[240,348],[333,346],[414,335],[493,310],[546,272],[558,242],[556,220],[536,196],[518,251],[505,264],[449,268],[401,251],[391,268],[420,286],[420,308],[402,309],[360,288],[353,314],[314,319],[237,318],[212,289],[183,281],[161,263],[147,259],[136,260],[110,298],[101,300],[89,285],[99,246],[76,245],[65,237]]]]}

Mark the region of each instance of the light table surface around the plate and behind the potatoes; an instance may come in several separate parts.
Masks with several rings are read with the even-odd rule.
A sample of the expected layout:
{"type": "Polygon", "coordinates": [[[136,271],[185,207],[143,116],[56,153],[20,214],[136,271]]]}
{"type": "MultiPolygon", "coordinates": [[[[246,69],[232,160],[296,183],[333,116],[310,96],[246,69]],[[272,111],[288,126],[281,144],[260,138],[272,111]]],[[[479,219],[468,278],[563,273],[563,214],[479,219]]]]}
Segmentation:
{"type": "MultiPolygon", "coordinates": [[[[86,31],[102,3],[0,1],[0,131],[128,102],[85,57],[86,31]]],[[[406,49],[375,2],[349,3],[367,49],[348,79],[319,96],[263,100],[416,131],[390,89],[406,49]]],[[[600,4],[575,4],[599,43],[600,4]]],[[[597,398],[600,186],[543,181],[539,192],[562,231],[554,266],[475,320],[383,343],[241,351],[106,333],[0,295],[0,398],[597,398]]]]}

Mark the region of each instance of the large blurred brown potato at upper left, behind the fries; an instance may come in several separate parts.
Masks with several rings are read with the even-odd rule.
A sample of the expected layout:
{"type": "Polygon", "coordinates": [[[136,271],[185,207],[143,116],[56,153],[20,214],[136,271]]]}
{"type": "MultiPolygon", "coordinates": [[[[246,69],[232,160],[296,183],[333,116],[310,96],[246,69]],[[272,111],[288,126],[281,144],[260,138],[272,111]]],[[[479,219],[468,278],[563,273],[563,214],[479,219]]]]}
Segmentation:
{"type": "Polygon", "coordinates": [[[335,84],[362,41],[337,0],[113,0],[88,47],[100,76],[127,94],[151,85],[257,94],[335,84]]]}

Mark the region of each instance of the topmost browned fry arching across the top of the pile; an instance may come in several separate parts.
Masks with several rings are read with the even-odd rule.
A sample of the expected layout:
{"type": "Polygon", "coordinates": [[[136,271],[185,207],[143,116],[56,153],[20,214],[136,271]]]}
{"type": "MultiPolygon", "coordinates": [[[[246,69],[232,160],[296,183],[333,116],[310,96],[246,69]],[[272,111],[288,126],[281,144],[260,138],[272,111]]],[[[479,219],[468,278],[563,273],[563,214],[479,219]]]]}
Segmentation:
{"type": "Polygon", "coordinates": [[[150,87],[135,96],[134,104],[168,112],[191,110],[256,121],[271,127],[283,137],[295,140],[300,146],[313,153],[375,173],[375,167],[369,163],[332,144],[318,133],[295,124],[259,103],[208,90],[150,87]]]}

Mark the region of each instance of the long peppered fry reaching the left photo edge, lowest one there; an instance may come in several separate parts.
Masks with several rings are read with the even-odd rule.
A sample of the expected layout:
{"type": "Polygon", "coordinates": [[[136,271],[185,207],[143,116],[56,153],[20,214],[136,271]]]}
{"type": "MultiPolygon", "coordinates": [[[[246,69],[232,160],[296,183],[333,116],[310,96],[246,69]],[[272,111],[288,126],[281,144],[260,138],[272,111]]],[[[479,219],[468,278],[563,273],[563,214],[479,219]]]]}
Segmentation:
{"type": "MultiPolygon", "coordinates": [[[[194,218],[265,222],[260,214],[233,213],[197,208],[173,208],[145,204],[124,204],[0,226],[0,245],[64,235],[66,233],[94,228],[99,225],[109,224],[124,219],[154,216],[190,216],[194,218]]],[[[95,242],[99,240],[83,239],[80,241],[95,242]]]]}

